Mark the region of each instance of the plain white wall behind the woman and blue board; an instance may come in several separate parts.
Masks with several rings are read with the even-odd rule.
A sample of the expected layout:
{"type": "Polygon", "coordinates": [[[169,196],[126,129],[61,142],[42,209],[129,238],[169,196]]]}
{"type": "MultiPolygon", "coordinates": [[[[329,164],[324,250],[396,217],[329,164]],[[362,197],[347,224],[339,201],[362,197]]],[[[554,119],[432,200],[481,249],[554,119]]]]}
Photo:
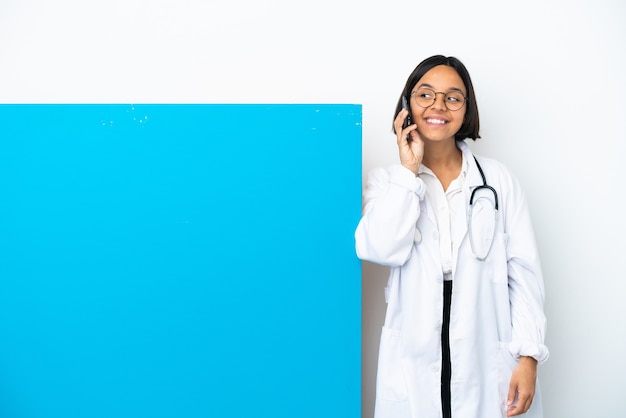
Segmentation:
{"type": "MultiPolygon", "coordinates": [[[[0,0],[0,102],[360,103],[365,176],[396,161],[391,121],[413,68],[460,58],[481,116],[472,146],[509,165],[530,199],[547,291],[545,415],[616,417],[625,18],[621,0],[0,0]]],[[[245,118],[242,135],[254,135],[245,118]]],[[[364,417],[385,282],[364,263],[364,417]]]]}

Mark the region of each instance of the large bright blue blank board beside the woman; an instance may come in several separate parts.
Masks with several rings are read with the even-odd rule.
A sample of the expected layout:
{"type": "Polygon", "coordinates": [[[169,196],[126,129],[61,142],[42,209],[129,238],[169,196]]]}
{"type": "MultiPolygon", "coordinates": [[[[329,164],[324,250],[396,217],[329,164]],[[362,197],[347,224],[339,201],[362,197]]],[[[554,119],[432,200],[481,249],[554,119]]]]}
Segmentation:
{"type": "Polygon", "coordinates": [[[1,105],[0,416],[359,417],[359,105],[1,105]]]}

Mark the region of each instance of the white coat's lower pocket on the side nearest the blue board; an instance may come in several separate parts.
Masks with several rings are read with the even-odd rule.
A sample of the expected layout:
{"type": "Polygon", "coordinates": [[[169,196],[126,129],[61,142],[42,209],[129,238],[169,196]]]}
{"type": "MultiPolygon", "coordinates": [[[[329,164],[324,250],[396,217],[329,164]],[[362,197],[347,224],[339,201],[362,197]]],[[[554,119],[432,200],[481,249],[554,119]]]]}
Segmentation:
{"type": "Polygon", "coordinates": [[[396,402],[407,399],[402,351],[402,334],[399,331],[383,327],[376,375],[377,399],[396,402]]]}

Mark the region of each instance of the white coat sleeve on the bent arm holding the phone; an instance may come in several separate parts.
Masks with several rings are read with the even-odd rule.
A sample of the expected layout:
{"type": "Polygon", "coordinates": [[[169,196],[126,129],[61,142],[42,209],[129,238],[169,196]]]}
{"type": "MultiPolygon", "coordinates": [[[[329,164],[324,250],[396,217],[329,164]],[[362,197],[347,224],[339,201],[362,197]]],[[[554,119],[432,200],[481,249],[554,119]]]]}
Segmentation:
{"type": "Polygon", "coordinates": [[[358,257],[391,267],[403,265],[411,255],[424,193],[422,179],[403,166],[373,170],[355,232],[358,257]]]}

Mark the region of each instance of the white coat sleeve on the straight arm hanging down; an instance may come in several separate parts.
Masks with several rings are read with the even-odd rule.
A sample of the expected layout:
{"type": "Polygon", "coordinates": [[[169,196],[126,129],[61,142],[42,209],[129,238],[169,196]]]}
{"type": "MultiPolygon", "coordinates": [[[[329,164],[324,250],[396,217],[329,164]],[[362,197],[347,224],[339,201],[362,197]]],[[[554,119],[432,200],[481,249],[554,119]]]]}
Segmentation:
{"type": "Polygon", "coordinates": [[[509,350],[517,357],[530,356],[543,363],[549,351],[544,345],[545,296],[539,253],[525,193],[513,177],[505,187],[511,191],[503,202],[512,322],[509,350]]]}

